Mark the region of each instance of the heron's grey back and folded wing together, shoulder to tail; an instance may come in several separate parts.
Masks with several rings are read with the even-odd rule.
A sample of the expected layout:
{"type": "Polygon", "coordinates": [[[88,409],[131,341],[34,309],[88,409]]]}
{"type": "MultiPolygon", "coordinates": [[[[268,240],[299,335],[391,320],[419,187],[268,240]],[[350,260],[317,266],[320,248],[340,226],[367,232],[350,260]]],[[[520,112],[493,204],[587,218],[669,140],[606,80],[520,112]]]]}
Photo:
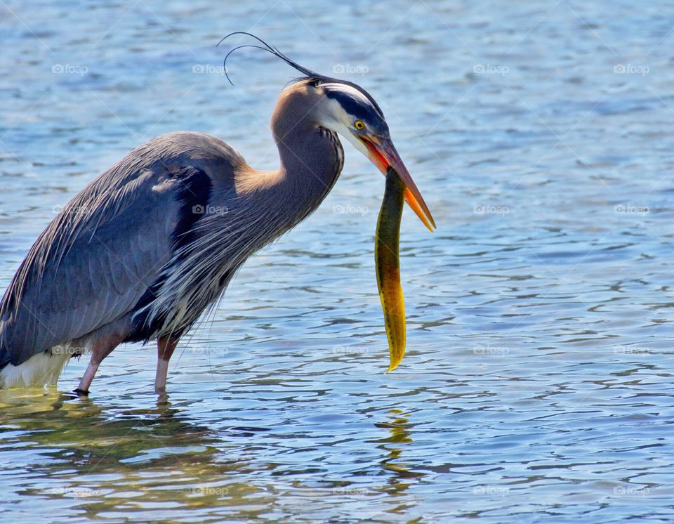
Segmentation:
{"type": "Polygon", "coordinates": [[[131,311],[171,258],[173,166],[228,176],[243,163],[217,138],[171,133],[88,185],[40,235],[0,303],[0,364],[18,365],[131,311]]]}

